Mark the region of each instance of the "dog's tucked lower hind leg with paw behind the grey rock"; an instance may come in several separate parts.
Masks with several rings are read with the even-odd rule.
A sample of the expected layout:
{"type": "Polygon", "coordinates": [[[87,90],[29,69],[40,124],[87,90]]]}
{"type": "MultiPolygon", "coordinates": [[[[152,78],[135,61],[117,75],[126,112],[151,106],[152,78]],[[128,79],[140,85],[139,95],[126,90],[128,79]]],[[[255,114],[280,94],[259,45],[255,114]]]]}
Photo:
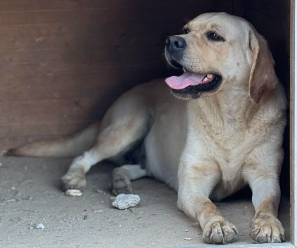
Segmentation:
{"type": "Polygon", "coordinates": [[[132,192],[131,180],[149,176],[146,169],[141,165],[122,165],[113,169],[112,172],[112,193],[117,195],[117,190],[126,189],[127,193],[132,192]]]}

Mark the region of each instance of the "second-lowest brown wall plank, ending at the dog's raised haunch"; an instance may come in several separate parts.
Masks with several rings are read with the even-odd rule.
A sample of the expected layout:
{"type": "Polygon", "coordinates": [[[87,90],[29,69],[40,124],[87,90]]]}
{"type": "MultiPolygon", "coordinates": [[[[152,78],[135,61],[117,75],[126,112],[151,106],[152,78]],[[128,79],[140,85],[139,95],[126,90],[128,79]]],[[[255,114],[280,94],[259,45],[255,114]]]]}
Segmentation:
{"type": "Polygon", "coordinates": [[[115,98],[1,102],[0,124],[94,120],[102,116],[115,98]]]}

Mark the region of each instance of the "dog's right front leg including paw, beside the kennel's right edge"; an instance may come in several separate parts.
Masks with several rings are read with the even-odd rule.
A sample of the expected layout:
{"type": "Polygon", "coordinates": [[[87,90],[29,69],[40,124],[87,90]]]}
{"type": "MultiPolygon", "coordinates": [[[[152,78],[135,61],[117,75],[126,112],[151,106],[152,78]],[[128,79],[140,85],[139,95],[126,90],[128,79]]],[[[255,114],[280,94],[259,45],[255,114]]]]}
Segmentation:
{"type": "Polygon", "coordinates": [[[249,153],[242,168],[244,179],[252,189],[256,211],[250,236],[258,243],[285,241],[284,228],[277,218],[283,149],[281,142],[276,144],[267,142],[257,146],[249,153]]]}

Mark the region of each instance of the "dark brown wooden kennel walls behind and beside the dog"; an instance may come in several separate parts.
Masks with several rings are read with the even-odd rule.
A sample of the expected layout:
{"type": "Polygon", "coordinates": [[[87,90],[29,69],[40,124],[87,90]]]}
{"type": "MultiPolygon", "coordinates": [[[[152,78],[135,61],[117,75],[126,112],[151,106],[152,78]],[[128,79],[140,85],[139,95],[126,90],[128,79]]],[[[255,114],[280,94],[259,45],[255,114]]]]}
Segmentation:
{"type": "Polygon", "coordinates": [[[174,73],[163,55],[165,38],[181,33],[201,13],[221,11],[246,18],[268,40],[286,89],[290,105],[281,178],[292,203],[291,241],[296,242],[295,1],[0,1],[1,149],[80,130],[100,119],[124,91],[174,73]]]}

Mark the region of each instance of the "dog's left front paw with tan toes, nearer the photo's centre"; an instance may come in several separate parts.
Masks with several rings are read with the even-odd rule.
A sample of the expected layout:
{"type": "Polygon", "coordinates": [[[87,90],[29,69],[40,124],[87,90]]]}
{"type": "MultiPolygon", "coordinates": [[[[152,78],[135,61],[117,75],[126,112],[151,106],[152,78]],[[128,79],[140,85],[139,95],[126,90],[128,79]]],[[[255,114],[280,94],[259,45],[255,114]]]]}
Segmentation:
{"type": "Polygon", "coordinates": [[[238,237],[236,227],[221,216],[211,218],[203,229],[203,241],[210,244],[227,244],[238,237]]]}

